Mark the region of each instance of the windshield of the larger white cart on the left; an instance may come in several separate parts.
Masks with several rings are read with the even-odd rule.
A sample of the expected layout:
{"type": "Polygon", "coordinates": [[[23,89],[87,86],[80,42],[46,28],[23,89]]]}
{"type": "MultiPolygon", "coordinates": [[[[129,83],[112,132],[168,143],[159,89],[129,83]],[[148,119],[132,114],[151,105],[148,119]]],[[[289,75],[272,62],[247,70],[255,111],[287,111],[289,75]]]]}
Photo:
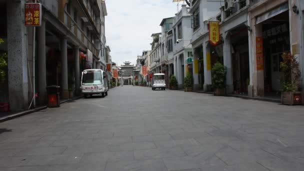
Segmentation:
{"type": "Polygon", "coordinates": [[[102,84],[101,70],[85,70],[82,74],[82,84],[102,84]]]}

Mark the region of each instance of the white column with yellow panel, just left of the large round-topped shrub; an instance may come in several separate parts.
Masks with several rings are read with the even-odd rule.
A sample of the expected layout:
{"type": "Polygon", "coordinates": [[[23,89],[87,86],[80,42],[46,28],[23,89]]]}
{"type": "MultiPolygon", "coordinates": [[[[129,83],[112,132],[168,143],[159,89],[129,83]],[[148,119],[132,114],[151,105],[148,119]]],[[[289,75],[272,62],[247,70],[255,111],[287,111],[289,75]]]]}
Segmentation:
{"type": "Polygon", "coordinates": [[[207,47],[207,43],[202,43],[202,53],[203,53],[203,90],[210,91],[211,90],[211,58],[210,58],[210,48],[207,47]]]}

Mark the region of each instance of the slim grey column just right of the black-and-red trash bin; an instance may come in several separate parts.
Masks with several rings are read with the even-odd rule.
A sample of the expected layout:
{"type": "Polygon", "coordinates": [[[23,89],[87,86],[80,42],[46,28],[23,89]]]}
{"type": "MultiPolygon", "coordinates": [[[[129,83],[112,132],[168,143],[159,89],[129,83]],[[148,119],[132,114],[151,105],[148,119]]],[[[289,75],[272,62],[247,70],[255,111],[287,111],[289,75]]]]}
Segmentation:
{"type": "Polygon", "coordinates": [[[67,40],[66,37],[61,38],[61,96],[63,99],[68,98],[68,82],[67,82],[67,40]]]}

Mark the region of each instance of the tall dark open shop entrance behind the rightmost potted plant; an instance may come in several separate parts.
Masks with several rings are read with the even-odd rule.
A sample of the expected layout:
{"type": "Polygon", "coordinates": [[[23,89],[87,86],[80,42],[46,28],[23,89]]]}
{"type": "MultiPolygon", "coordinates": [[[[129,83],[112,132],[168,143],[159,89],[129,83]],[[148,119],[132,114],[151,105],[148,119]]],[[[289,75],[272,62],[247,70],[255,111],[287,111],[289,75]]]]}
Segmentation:
{"type": "Polygon", "coordinates": [[[282,53],[290,51],[289,14],[284,11],[262,22],[264,94],[279,97],[282,53]]]}

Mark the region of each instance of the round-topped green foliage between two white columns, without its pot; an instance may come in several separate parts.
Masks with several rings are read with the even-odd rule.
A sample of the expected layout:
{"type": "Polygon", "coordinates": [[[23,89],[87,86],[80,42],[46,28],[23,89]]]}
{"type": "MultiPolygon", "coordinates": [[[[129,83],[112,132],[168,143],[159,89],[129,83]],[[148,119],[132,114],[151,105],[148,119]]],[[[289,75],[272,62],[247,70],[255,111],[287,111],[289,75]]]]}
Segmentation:
{"type": "Polygon", "coordinates": [[[211,69],[212,86],[214,88],[224,88],[226,80],[226,69],[225,67],[216,62],[211,69]]]}

